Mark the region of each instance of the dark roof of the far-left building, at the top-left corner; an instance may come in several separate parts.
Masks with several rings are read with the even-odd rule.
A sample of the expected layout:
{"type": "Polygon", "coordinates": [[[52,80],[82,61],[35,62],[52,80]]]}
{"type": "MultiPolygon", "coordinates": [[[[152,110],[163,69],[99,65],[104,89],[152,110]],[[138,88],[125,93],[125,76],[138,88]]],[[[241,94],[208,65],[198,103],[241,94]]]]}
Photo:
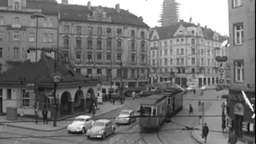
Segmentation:
{"type": "MultiPolygon", "coordinates": [[[[8,0],[0,0],[0,6],[8,6],[8,0]]],[[[55,0],[26,0],[26,8],[42,9],[42,14],[58,15],[58,2],[55,0]]]]}

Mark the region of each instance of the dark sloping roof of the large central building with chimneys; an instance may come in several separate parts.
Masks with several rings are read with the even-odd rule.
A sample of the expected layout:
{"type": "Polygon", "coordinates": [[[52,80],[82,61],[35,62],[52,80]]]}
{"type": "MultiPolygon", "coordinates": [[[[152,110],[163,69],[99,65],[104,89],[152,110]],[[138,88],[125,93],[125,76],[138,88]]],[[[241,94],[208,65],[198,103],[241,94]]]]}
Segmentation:
{"type": "Polygon", "coordinates": [[[97,9],[102,9],[103,11],[105,11],[106,18],[111,17],[111,22],[106,23],[115,23],[129,26],[141,26],[149,28],[149,26],[147,26],[146,23],[141,20],[141,18],[138,18],[136,15],[131,14],[128,10],[121,9],[120,13],[118,13],[117,10],[115,10],[114,8],[102,6],[91,6],[91,10],[89,10],[88,6],[59,4],[60,20],[77,22],[95,22],[90,21],[87,18],[87,16],[91,14],[92,11],[97,9]]]}

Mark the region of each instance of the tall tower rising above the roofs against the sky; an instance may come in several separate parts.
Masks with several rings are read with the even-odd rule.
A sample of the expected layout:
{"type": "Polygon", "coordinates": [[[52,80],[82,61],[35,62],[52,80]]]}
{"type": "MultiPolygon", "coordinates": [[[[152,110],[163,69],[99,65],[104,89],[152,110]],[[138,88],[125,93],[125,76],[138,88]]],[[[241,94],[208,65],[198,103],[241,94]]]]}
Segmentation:
{"type": "Polygon", "coordinates": [[[160,22],[162,26],[170,26],[178,22],[178,6],[179,3],[176,2],[176,0],[163,0],[162,14],[158,22],[160,22]]]}

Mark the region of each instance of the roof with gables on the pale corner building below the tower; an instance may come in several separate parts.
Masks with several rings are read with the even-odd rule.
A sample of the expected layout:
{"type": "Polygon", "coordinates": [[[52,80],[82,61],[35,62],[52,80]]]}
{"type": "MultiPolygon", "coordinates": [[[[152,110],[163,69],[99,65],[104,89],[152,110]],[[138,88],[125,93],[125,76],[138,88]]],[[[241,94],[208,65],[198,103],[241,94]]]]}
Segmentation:
{"type": "MultiPolygon", "coordinates": [[[[160,39],[168,39],[168,38],[174,38],[174,34],[175,32],[178,30],[179,26],[183,26],[183,27],[198,27],[197,25],[195,25],[194,23],[190,23],[190,22],[175,22],[174,24],[170,25],[170,26],[161,26],[161,27],[154,27],[154,30],[158,31],[158,35],[160,39]]],[[[206,39],[209,40],[214,40],[214,30],[208,29],[206,27],[202,27],[202,34],[204,34],[206,39]]],[[[152,34],[154,33],[154,30],[151,31],[150,33],[150,38],[152,36],[152,34]]],[[[218,36],[219,40],[222,42],[224,40],[226,40],[226,37],[219,35],[218,36]]]]}

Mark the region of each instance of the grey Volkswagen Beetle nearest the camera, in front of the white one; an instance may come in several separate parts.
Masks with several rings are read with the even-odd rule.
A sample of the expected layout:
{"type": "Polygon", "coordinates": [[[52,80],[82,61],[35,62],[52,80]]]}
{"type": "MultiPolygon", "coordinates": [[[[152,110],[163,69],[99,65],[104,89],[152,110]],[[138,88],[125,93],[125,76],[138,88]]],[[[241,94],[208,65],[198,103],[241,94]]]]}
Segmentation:
{"type": "Polygon", "coordinates": [[[98,119],[94,122],[94,126],[87,130],[87,138],[102,138],[105,139],[110,134],[114,134],[115,127],[108,119],[98,119]]]}

